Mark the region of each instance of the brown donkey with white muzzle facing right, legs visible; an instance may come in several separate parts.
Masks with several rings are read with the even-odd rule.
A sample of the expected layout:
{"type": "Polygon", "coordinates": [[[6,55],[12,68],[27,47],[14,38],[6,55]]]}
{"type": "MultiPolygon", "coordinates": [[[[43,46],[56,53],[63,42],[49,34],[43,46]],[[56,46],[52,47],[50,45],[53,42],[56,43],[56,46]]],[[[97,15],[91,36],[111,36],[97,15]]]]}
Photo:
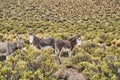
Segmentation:
{"type": "Polygon", "coordinates": [[[61,52],[68,52],[69,58],[71,58],[75,45],[76,44],[81,45],[80,39],[81,39],[80,35],[76,35],[75,37],[72,37],[68,40],[58,39],[55,41],[55,54],[60,64],[61,64],[60,60],[61,52]]]}

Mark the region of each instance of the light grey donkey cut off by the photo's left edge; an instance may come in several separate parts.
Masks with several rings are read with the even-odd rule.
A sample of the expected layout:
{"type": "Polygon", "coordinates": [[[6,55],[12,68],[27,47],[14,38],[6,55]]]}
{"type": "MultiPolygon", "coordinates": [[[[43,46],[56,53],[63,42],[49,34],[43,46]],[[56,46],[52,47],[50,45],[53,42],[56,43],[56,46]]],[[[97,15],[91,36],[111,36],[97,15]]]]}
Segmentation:
{"type": "MultiPolygon", "coordinates": [[[[24,50],[24,41],[22,39],[19,39],[15,42],[0,42],[0,55],[5,57],[8,55],[12,55],[12,53],[18,49],[24,50]]],[[[3,58],[3,57],[0,58],[3,58]]]]}

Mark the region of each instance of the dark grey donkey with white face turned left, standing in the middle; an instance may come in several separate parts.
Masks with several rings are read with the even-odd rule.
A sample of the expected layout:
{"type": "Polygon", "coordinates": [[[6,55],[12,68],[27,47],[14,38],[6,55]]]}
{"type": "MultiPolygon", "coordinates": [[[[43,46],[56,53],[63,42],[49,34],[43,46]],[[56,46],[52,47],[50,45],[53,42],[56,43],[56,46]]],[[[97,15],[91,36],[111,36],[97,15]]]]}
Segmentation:
{"type": "Polygon", "coordinates": [[[38,38],[33,34],[29,35],[29,43],[33,44],[37,49],[55,48],[55,38],[38,38]]]}

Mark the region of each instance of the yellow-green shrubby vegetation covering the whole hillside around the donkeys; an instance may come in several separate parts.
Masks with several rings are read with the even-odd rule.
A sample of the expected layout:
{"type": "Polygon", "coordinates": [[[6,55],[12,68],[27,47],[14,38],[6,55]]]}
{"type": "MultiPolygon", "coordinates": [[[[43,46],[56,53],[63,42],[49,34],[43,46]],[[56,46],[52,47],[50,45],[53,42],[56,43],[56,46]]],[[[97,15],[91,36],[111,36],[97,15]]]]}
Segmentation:
{"type": "Polygon", "coordinates": [[[28,32],[58,39],[81,34],[87,43],[66,65],[87,80],[120,78],[120,0],[0,0],[0,41],[20,34],[27,47],[0,62],[0,80],[56,80],[52,74],[60,65],[52,50],[31,48],[28,32]]]}

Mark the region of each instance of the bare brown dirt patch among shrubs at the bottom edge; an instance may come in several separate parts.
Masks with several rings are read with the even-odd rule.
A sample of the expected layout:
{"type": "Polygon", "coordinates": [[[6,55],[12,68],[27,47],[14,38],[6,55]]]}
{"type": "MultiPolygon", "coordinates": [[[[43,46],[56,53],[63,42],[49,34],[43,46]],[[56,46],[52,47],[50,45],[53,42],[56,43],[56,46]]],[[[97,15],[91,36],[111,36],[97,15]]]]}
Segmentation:
{"type": "Polygon", "coordinates": [[[86,80],[82,73],[79,73],[76,69],[73,68],[60,68],[56,73],[55,76],[57,80],[86,80]]]}

